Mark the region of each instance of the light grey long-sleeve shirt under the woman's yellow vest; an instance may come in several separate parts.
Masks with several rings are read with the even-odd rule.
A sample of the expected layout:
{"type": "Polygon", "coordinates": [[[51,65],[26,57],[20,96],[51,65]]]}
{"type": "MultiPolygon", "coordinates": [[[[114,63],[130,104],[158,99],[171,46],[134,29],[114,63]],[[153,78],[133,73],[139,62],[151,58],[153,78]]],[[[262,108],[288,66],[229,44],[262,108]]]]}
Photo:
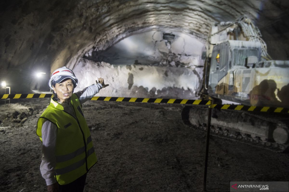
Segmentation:
{"type": "MultiPolygon", "coordinates": [[[[90,100],[95,94],[102,88],[100,83],[93,84],[84,88],[82,91],[78,91],[75,94],[78,96],[81,104],[90,100]]],[[[64,111],[76,117],[73,106],[70,103],[60,103],[64,108],[64,111]]],[[[55,147],[57,137],[57,127],[50,121],[45,121],[42,125],[42,162],[40,164],[40,172],[42,177],[46,181],[46,185],[52,185],[56,183],[54,178],[54,168],[56,165],[55,147]]]]}

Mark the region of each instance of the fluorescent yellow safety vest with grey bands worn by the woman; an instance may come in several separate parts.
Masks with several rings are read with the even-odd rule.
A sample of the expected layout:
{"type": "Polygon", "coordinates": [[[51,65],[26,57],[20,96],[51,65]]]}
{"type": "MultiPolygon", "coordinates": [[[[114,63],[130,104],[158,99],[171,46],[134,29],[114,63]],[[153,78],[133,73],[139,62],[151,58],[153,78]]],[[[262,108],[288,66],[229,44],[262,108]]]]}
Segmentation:
{"type": "Polygon", "coordinates": [[[55,178],[60,185],[73,182],[97,162],[90,131],[76,94],[71,96],[76,119],[63,110],[62,105],[51,99],[39,117],[36,134],[42,141],[41,129],[45,121],[57,126],[55,178]]]}

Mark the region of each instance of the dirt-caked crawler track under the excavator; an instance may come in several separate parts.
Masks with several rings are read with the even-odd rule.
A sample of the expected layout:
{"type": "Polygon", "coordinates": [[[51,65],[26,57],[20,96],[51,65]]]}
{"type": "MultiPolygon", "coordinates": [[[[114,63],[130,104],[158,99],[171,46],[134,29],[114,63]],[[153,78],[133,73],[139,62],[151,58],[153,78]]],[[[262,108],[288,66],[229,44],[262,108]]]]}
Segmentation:
{"type": "MultiPolygon", "coordinates": [[[[288,117],[287,114],[213,109],[210,134],[253,147],[284,153],[289,151],[288,117]]],[[[206,130],[208,107],[185,106],[182,110],[182,120],[187,125],[206,130]]]]}

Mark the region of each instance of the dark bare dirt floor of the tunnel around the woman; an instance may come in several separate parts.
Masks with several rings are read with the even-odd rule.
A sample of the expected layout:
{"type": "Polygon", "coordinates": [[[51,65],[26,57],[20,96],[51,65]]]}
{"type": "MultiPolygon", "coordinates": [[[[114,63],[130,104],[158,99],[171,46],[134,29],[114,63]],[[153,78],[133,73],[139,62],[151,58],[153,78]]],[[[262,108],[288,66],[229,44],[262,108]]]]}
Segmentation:
{"type": "MultiPolygon", "coordinates": [[[[49,99],[12,102],[0,105],[0,191],[46,191],[36,122],[49,99]]],[[[182,107],[86,102],[98,163],[84,191],[202,191],[205,131],[182,123],[182,107]]],[[[288,181],[288,168],[288,153],[211,136],[207,191],[229,191],[230,181],[288,181]]]]}

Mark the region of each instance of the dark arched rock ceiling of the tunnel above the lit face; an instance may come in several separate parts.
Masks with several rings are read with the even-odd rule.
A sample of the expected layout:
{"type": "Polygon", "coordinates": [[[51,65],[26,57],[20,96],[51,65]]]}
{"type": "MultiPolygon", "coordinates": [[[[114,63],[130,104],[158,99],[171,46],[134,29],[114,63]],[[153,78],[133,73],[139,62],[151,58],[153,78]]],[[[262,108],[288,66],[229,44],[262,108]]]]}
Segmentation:
{"type": "MultiPolygon", "coordinates": [[[[172,29],[204,40],[214,22],[242,15],[257,24],[268,47],[282,41],[287,49],[288,4],[287,0],[1,0],[1,76],[11,68],[72,67],[92,47],[103,50],[152,29],[172,29]]],[[[277,51],[271,49],[274,55],[277,51]]]]}

